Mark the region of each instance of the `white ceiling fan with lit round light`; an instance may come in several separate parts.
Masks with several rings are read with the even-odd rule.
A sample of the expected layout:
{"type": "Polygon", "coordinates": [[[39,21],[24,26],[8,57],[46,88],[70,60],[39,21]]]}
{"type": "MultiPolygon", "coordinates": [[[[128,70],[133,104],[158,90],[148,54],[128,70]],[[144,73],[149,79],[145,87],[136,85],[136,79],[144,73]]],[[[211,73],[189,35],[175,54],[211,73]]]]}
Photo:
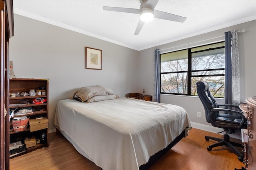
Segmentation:
{"type": "Polygon", "coordinates": [[[140,9],[103,6],[103,10],[140,14],[140,20],[134,35],[138,35],[144,23],[146,21],[152,20],[153,18],[176,21],[176,22],[184,22],[187,19],[182,16],[177,16],[167,12],[154,10],[158,1],[159,0],[140,0],[140,9]]]}

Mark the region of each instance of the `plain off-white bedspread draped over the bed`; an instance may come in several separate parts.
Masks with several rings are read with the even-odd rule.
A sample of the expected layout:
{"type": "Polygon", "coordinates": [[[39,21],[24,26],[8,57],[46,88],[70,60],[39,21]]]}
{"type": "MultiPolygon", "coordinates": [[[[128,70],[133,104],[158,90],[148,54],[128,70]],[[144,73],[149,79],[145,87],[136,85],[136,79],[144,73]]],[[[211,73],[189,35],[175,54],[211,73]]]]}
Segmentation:
{"type": "Polygon", "coordinates": [[[191,128],[182,107],[132,98],[60,100],[54,125],[103,170],[138,170],[191,128]]]}

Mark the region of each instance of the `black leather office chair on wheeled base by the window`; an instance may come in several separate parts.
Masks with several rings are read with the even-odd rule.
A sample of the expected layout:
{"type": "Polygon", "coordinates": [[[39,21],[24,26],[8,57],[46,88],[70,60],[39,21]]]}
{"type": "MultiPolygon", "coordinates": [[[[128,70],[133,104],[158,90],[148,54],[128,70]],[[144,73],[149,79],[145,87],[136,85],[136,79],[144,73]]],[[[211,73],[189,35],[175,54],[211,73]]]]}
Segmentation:
{"type": "Polygon", "coordinates": [[[230,142],[230,137],[228,135],[228,132],[232,134],[235,130],[240,130],[242,128],[246,129],[246,118],[241,109],[234,105],[217,104],[209,90],[208,82],[197,82],[196,85],[198,96],[204,106],[206,121],[211,123],[214,127],[223,128],[225,131],[223,139],[205,136],[206,141],[209,141],[209,139],[218,141],[217,143],[210,145],[207,150],[211,151],[214,147],[225,145],[232,149],[238,156],[238,160],[243,162],[244,155],[235,148],[243,147],[242,144],[230,142]],[[224,106],[225,108],[220,108],[219,106],[224,106]]]}

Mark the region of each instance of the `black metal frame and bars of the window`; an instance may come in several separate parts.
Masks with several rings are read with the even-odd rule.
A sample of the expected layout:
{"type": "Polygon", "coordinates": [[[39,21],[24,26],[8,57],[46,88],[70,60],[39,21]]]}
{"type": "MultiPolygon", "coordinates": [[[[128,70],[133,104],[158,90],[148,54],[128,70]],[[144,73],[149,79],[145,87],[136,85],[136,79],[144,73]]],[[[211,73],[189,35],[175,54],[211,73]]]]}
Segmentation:
{"type": "MultiPolygon", "coordinates": [[[[193,53],[200,53],[200,52],[204,52],[204,51],[212,51],[212,50],[215,50],[215,49],[222,49],[224,48],[225,49],[225,45],[224,46],[221,46],[221,47],[215,47],[215,48],[209,48],[209,49],[204,49],[204,50],[200,50],[200,51],[193,51],[191,52],[191,49],[194,49],[194,48],[198,48],[198,47],[204,47],[204,46],[208,46],[208,45],[214,45],[214,44],[218,44],[218,43],[224,43],[225,41],[219,41],[219,42],[216,42],[216,43],[209,43],[209,44],[206,44],[206,45],[200,45],[200,46],[196,46],[196,47],[190,47],[188,49],[181,49],[181,50],[176,50],[176,51],[172,51],[172,52],[168,52],[168,53],[174,53],[174,52],[177,52],[177,51],[183,51],[183,50],[188,50],[188,70],[187,71],[174,71],[174,72],[161,72],[161,55],[163,54],[167,54],[167,53],[162,53],[160,54],[160,86],[161,86],[161,78],[162,78],[162,75],[163,74],[175,74],[175,73],[187,73],[188,75],[188,80],[187,80],[187,88],[188,88],[188,91],[187,93],[188,94],[183,94],[183,93],[168,93],[168,92],[161,92],[160,90],[160,94],[173,94],[173,95],[182,95],[182,96],[196,96],[196,95],[192,95],[191,94],[191,80],[192,80],[192,77],[210,77],[210,76],[224,76],[225,77],[225,74],[207,74],[207,75],[192,75],[192,72],[198,72],[198,71],[214,71],[214,70],[225,70],[225,68],[213,68],[213,69],[203,69],[203,70],[192,70],[192,54],[193,53]]],[[[225,61],[224,61],[225,62],[225,61]]],[[[222,97],[214,97],[214,98],[222,98],[222,97]]]]}

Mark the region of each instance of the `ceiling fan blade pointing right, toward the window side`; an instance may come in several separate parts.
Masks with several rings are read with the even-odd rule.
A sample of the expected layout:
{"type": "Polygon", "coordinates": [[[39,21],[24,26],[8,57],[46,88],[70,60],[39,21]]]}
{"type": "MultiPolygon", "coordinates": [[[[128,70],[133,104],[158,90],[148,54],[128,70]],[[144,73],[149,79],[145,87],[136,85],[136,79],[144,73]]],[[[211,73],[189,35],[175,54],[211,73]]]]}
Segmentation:
{"type": "Polygon", "coordinates": [[[187,19],[186,17],[177,16],[174,14],[170,14],[170,13],[162,12],[158,10],[154,10],[154,18],[176,21],[176,22],[184,22],[187,19]]]}

